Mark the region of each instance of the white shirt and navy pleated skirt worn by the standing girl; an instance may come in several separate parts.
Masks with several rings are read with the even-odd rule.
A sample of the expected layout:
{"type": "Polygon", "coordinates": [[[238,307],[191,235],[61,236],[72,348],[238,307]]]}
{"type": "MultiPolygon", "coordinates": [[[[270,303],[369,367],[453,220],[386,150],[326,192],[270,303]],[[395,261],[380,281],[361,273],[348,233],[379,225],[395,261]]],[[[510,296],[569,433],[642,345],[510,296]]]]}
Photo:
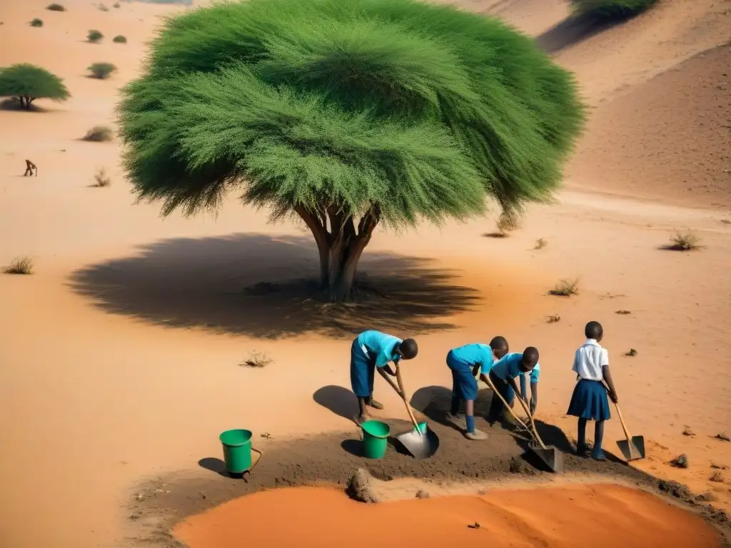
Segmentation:
{"type": "Polygon", "coordinates": [[[580,381],[574,387],[567,414],[596,422],[611,418],[607,389],[602,383],[603,365],[609,365],[609,356],[596,340],[588,339],[576,351],[572,370],[580,381]]]}

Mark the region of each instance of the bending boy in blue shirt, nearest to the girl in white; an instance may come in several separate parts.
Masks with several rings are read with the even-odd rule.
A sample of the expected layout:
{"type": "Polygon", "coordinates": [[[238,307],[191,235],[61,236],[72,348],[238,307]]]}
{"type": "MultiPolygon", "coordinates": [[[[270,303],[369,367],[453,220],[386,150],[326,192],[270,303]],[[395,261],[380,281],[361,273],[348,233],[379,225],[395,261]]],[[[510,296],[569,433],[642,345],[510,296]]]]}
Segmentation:
{"type": "MultiPolygon", "coordinates": [[[[507,401],[512,408],[515,394],[526,400],[526,375],[531,378],[531,415],[536,411],[538,406],[538,379],[540,377],[541,366],[538,363],[538,349],[529,346],[523,353],[513,352],[502,357],[499,362],[493,364],[490,370],[490,380],[495,389],[507,401]],[[515,384],[515,378],[520,378],[520,391],[518,385],[515,384]]],[[[504,411],[504,405],[499,397],[493,396],[490,402],[490,411],[488,411],[488,422],[492,426],[500,419],[504,411]]]]}

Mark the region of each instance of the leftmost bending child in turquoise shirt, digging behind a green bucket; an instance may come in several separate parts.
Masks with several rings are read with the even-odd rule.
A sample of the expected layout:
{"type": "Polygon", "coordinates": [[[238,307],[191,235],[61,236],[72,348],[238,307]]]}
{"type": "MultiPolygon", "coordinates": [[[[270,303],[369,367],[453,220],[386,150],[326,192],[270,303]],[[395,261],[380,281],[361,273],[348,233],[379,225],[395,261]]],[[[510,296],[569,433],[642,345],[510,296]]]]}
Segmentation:
{"type": "Polygon", "coordinates": [[[376,369],[379,374],[396,376],[389,362],[398,368],[401,359],[413,359],[419,352],[414,339],[387,335],[380,331],[364,331],[353,340],[350,348],[350,386],[358,398],[360,414],[357,422],[368,420],[368,407],[382,409],[383,405],[373,399],[373,382],[376,369]]]}

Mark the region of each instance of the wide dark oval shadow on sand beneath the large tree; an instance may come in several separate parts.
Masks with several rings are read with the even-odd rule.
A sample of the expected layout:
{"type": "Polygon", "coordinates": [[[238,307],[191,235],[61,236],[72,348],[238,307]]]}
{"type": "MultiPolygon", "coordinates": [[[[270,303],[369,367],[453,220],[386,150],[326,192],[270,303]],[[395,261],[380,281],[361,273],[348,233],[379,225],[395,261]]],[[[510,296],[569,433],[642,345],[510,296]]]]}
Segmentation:
{"type": "Polygon", "coordinates": [[[319,298],[317,248],[308,237],[175,238],[77,270],[69,286],[103,311],[169,327],[273,339],[305,332],[344,337],[369,328],[415,335],[455,327],[436,319],[468,311],[479,299],[475,289],[451,283],[454,272],[429,262],[363,256],[365,297],[333,305],[319,298]]]}

